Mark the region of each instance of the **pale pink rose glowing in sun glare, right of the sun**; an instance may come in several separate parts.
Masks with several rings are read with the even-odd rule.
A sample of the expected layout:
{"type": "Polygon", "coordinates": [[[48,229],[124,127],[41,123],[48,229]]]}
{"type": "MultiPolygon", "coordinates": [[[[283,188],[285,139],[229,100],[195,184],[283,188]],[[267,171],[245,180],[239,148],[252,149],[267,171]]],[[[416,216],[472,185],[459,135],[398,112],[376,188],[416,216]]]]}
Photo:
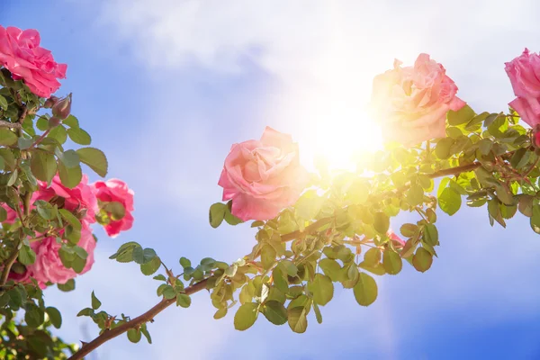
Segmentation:
{"type": "Polygon", "coordinates": [[[394,68],[375,76],[371,107],[385,139],[416,145],[446,136],[446,112],[465,103],[446,69],[428,54],[420,54],[414,67],[394,68]]]}

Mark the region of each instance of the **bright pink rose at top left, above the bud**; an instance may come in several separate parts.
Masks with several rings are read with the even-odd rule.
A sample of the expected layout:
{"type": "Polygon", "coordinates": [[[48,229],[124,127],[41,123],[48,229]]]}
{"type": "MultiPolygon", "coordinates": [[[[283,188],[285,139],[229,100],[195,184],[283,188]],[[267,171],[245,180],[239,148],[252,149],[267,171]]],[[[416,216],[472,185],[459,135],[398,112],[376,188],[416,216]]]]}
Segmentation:
{"type": "Polygon", "coordinates": [[[0,66],[15,80],[24,80],[33,94],[49,97],[60,87],[58,78],[66,78],[66,64],[58,64],[48,49],[40,47],[40,33],[0,25],[0,66]]]}

